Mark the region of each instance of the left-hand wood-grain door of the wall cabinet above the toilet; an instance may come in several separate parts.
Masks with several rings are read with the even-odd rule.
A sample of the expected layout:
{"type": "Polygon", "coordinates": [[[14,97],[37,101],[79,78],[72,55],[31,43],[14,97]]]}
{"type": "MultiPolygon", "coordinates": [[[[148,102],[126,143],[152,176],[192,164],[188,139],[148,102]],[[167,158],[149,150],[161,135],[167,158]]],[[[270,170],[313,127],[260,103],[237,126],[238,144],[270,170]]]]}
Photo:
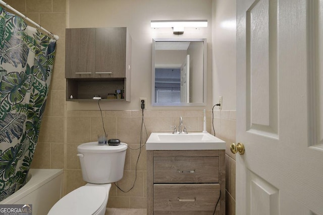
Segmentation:
{"type": "Polygon", "coordinates": [[[94,78],[95,29],[66,29],[65,78],[94,78]]]}

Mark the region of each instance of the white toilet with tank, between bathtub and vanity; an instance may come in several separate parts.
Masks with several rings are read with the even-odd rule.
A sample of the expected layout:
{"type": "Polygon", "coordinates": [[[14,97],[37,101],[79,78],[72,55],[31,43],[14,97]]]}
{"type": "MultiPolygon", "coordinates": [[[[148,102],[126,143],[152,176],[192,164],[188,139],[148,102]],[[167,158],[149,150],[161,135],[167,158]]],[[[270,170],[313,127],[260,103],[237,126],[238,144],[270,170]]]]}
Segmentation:
{"type": "Polygon", "coordinates": [[[50,215],[104,215],[112,182],[123,177],[127,144],[119,146],[87,142],[77,147],[83,180],[88,182],[61,198],[50,215]]]}

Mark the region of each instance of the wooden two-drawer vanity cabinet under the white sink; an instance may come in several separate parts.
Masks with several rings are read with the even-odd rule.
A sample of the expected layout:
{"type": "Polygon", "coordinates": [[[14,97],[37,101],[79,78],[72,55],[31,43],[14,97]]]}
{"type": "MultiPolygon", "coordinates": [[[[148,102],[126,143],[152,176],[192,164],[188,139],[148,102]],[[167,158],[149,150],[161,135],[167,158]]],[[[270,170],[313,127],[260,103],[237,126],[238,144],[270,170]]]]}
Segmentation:
{"type": "Polygon", "coordinates": [[[147,214],[213,214],[219,197],[224,215],[225,150],[147,151],[147,214]]]}

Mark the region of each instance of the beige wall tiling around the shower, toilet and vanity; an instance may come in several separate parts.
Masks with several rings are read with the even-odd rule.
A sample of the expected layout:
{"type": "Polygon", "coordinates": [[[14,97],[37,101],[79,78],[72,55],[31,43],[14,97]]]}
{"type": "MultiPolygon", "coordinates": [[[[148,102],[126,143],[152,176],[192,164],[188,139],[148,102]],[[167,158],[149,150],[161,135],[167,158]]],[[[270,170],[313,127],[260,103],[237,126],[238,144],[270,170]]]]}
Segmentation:
{"type": "MultiPolygon", "coordinates": [[[[82,173],[77,146],[95,141],[103,133],[99,111],[67,111],[65,102],[65,28],[66,0],[8,0],[7,3],[27,17],[40,23],[47,30],[58,34],[57,55],[50,92],[43,117],[38,145],[32,168],[64,169],[64,194],[82,186],[82,173]]],[[[141,111],[102,111],[103,122],[109,138],[119,138],[129,147],[140,146],[141,111]]],[[[178,124],[183,116],[188,131],[201,131],[203,111],[201,110],[147,110],[144,122],[149,136],[152,131],[170,131],[170,125],[178,124]]],[[[207,130],[212,131],[211,111],[207,111],[207,130]]],[[[216,111],[214,127],[217,136],[228,142],[235,142],[235,111],[216,111]]],[[[146,137],[144,135],[144,137],[146,137]]],[[[234,214],[235,207],[235,157],[227,146],[227,214],[234,214]]],[[[118,182],[123,189],[129,189],[135,178],[138,150],[127,150],[124,177],[118,182]]],[[[146,153],[142,148],[137,165],[137,179],[134,189],[123,193],[113,185],[108,207],[146,207],[146,153]]]]}

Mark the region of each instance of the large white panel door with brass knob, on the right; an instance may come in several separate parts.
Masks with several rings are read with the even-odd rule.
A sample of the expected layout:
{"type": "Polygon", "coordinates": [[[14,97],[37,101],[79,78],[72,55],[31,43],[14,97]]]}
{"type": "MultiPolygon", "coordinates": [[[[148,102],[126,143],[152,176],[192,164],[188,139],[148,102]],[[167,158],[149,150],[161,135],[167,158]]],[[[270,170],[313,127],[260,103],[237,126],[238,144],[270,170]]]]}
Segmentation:
{"type": "Polygon", "coordinates": [[[236,214],[323,215],[323,1],[237,1],[236,214]]]}

